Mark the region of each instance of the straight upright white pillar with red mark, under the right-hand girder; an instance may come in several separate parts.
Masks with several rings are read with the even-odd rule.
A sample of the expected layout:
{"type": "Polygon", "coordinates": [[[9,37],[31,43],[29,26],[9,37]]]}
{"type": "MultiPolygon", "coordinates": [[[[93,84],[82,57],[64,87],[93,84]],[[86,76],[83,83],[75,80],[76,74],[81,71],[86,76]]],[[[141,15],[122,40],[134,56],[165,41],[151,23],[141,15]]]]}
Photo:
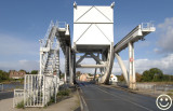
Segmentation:
{"type": "Polygon", "coordinates": [[[134,45],[129,42],[129,87],[132,89],[136,88],[136,75],[134,68],[134,45]]]}

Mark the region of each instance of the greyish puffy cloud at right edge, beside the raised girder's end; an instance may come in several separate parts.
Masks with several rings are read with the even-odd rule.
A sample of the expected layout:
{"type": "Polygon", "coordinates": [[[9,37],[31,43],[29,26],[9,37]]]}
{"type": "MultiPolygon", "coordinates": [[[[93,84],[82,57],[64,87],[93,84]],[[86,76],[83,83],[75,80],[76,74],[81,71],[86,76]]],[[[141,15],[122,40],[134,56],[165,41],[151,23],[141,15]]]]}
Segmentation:
{"type": "Polygon", "coordinates": [[[173,53],[173,17],[165,18],[164,23],[158,25],[160,53],[173,53]]]}

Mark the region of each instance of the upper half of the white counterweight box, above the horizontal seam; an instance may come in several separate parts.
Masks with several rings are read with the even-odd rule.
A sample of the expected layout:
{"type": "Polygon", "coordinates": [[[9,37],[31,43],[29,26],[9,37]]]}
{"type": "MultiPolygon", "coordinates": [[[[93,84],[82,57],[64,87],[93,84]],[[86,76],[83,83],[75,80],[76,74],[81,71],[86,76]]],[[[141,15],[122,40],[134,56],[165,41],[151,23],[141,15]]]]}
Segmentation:
{"type": "Polygon", "coordinates": [[[110,6],[77,6],[74,9],[74,23],[112,23],[110,6]]]}

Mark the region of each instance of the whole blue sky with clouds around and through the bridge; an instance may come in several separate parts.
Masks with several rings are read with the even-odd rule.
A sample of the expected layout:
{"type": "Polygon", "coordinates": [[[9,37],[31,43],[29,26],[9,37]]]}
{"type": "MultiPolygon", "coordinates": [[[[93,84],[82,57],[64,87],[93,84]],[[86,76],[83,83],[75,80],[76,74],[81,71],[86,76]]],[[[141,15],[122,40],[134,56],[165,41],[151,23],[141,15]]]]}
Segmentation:
{"type": "MultiPolygon", "coordinates": [[[[78,5],[110,5],[114,1],[115,44],[142,23],[152,22],[156,27],[145,41],[134,44],[136,72],[159,68],[165,74],[173,74],[173,0],[76,0],[78,5]]],[[[0,70],[38,70],[39,40],[44,37],[51,20],[69,24],[72,40],[74,2],[0,0],[0,70]]],[[[128,68],[128,48],[120,56],[128,68]]],[[[64,71],[62,53],[61,69],[64,71]]],[[[92,69],[81,71],[94,72],[92,69]]],[[[112,73],[122,73],[116,59],[112,73]]]]}

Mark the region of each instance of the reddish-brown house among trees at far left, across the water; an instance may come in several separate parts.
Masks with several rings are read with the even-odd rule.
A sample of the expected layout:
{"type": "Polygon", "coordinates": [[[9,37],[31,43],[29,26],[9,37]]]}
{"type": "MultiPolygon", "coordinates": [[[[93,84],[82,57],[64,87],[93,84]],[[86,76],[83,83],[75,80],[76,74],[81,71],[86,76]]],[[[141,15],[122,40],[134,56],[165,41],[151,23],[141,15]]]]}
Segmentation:
{"type": "Polygon", "coordinates": [[[21,71],[15,71],[15,70],[11,70],[10,71],[10,79],[24,79],[26,72],[21,70],[21,71]]]}

